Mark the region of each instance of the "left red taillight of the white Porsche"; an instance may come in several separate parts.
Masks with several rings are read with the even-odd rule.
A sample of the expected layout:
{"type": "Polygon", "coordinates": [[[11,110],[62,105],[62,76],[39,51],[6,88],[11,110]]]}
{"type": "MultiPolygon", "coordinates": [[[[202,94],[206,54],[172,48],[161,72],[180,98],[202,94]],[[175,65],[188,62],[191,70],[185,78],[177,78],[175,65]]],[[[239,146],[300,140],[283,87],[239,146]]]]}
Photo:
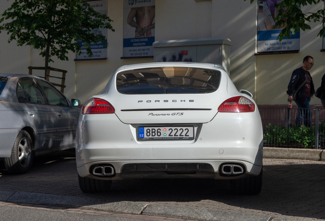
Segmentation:
{"type": "Polygon", "coordinates": [[[91,98],[82,106],[82,114],[114,114],[114,107],[106,100],[91,98]]]}

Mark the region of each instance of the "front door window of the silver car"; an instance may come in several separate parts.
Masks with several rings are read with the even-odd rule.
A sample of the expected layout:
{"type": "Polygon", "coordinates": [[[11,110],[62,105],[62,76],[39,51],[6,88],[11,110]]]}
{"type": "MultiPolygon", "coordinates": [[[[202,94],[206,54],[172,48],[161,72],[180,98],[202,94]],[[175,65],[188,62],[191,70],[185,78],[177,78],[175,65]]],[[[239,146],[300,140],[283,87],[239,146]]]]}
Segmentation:
{"type": "Polygon", "coordinates": [[[41,86],[50,104],[58,106],[68,106],[66,99],[51,84],[42,80],[37,80],[37,83],[41,86]]]}

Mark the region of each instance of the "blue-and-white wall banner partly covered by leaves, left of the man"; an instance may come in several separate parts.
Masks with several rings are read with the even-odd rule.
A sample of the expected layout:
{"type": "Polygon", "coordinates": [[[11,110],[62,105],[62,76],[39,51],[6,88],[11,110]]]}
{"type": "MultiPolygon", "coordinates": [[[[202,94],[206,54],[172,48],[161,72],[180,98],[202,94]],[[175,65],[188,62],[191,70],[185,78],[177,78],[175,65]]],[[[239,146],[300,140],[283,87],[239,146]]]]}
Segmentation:
{"type": "MultiPolygon", "coordinates": [[[[274,27],[274,18],[278,13],[276,9],[282,1],[263,0],[258,2],[257,52],[282,52],[300,49],[300,32],[296,32],[290,38],[284,37],[282,41],[277,40],[277,36],[284,27],[274,27]]],[[[280,10],[285,10],[285,8],[280,10]]]]}

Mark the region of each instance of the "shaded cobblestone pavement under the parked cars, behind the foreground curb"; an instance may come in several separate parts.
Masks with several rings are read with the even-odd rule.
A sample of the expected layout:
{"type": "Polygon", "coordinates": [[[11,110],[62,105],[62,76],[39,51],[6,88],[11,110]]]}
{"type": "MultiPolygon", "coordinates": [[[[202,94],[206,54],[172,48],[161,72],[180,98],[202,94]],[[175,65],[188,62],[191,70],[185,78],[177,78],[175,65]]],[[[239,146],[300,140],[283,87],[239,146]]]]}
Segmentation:
{"type": "Polygon", "coordinates": [[[27,174],[8,175],[0,169],[0,191],[325,220],[325,162],[264,159],[263,164],[259,195],[235,195],[230,192],[229,181],[204,179],[116,181],[109,193],[90,194],[79,189],[74,152],[64,151],[35,158],[27,174]]]}

